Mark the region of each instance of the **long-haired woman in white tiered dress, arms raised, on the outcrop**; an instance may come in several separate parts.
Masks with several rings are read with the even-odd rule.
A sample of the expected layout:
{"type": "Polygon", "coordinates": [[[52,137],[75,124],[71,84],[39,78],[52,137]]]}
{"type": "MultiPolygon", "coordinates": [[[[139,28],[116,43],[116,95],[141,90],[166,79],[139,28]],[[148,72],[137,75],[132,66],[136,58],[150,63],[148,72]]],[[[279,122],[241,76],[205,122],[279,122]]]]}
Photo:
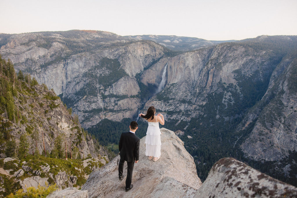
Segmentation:
{"type": "Polygon", "coordinates": [[[138,116],[146,118],[149,123],[148,129],[146,131],[146,156],[149,156],[149,160],[157,161],[161,156],[161,132],[159,128],[159,123],[164,125],[164,116],[159,113],[157,116],[155,107],[149,107],[146,115],[140,113],[138,116]]]}

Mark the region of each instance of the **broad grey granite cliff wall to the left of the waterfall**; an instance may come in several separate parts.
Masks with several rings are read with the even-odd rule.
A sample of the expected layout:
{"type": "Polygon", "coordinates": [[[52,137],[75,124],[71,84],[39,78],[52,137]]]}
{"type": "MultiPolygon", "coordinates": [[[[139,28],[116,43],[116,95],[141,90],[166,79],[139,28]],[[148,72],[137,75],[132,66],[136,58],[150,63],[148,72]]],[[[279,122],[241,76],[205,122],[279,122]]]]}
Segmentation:
{"type": "MultiPolygon", "coordinates": [[[[72,38],[72,42],[83,45],[83,36],[72,38]]],[[[138,98],[130,98],[140,92],[135,75],[164,55],[164,48],[153,42],[109,46],[109,35],[104,38],[99,46],[91,46],[92,51],[83,46],[86,52],[76,55],[77,48],[64,45],[69,42],[66,36],[52,34],[51,42],[47,42],[48,37],[41,33],[16,35],[1,47],[0,53],[10,58],[16,68],[30,72],[39,83],[53,88],[57,95],[63,94],[62,99],[88,128],[104,118],[132,118],[141,105],[138,98]]]]}

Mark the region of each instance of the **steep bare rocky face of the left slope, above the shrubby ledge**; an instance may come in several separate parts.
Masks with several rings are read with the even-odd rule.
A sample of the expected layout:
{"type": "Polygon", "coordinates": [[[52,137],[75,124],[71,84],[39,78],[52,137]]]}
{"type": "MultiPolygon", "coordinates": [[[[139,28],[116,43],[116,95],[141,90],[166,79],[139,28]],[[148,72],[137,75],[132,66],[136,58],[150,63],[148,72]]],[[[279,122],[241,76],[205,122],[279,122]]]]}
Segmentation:
{"type": "MultiPolygon", "coordinates": [[[[33,136],[30,135],[38,132],[36,142],[38,151],[40,154],[44,151],[44,140],[45,150],[49,154],[55,146],[57,136],[62,135],[67,147],[70,144],[72,149],[78,148],[77,156],[84,158],[90,154],[98,158],[98,145],[95,145],[97,142],[82,131],[80,123],[74,121],[59,97],[45,85],[35,85],[31,88],[31,92],[23,90],[18,93],[14,101],[20,117],[19,123],[12,122],[11,126],[6,128],[17,144],[23,134],[28,134],[28,142],[35,143],[33,136]]],[[[5,114],[2,115],[1,124],[5,127],[4,124],[7,122],[9,121],[5,118],[5,114]]],[[[30,146],[28,153],[31,154],[35,150],[34,146],[30,146]]],[[[106,155],[102,149],[100,153],[106,155]]]]}

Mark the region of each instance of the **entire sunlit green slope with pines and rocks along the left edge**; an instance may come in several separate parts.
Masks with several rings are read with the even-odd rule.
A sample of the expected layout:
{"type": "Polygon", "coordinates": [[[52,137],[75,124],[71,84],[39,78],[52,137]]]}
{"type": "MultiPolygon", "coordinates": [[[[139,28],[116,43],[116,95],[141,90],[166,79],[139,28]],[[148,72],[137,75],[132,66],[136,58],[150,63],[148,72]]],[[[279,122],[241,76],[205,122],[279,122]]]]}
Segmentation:
{"type": "Polygon", "coordinates": [[[108,152],[46,85],[0,56],[0,197],[56,184],[80,187],[108,152]]]}

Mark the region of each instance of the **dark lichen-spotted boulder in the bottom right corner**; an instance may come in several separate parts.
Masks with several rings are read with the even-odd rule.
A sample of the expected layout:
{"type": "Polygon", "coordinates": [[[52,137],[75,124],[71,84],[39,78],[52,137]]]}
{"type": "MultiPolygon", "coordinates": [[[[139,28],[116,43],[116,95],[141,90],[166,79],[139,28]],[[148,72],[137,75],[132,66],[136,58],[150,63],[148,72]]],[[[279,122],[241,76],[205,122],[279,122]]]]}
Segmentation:
{"type": "Polygon", "coordinates": [[[194,197],[296,197],[297,188],[273,179],[233,158],[211,168],[194,197]]]}

